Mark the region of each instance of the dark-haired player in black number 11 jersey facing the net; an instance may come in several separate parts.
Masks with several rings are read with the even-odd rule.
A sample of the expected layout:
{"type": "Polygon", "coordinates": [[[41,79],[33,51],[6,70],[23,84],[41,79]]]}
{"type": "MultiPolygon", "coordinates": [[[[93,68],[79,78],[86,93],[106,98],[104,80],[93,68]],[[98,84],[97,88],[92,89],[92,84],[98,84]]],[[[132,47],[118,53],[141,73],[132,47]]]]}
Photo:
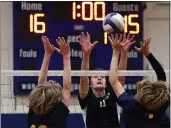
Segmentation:
{"type": "MultiPolygon", "coordinates": [[[[124,34],[124,41],[128,41],[128,45],[123,48],[119,68],[125,70],[127,66],[127,51],[129,42],[134,36],[124,34]]],[[[92,49],[97,41],[91,44],[90,34],[82,33],[80,35],[80,45],[83,50],[83,60],[81,70],[89,70],[89,58],[92,49]]],[[[98,56],[97,56],[98,57],[98,56]]],[[[102,62],[104,63],[104,62],[102,62]]],[[[99,70],[99,69],[97,69],[99,70]]],[[[124,83],[124,77],[120,77],[119,81],[124,83]]],[[[118,128],[118,114],[116,107],[117,97],[110,85],[106,84],[107,80],[104,76],[92,76],[89,80],[87,76],[80,78],[79,103],[82,109],[86,109],[86,126],[87,128],[118,128]],[[89,82],[90,81],[90,82],[89,82]]]]}

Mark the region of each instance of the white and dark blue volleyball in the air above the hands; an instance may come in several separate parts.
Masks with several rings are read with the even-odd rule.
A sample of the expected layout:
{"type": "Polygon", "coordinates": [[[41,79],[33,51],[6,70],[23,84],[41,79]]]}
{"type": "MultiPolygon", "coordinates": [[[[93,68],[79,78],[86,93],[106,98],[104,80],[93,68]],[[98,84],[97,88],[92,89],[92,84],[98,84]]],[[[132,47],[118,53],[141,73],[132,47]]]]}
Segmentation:
{"type": "Polygon", "coordinates": [[[116,33],[124,31],[124,18],[119,13],[109,13],[103,20],[103,29],[108,34],[113,31],[116,33]]]}

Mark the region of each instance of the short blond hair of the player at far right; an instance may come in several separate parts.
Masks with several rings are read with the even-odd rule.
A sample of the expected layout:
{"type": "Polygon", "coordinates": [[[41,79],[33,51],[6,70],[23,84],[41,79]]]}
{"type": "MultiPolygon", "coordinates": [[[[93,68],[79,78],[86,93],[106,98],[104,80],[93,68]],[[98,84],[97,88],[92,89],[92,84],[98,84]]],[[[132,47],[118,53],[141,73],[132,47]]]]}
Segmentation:
{"type": "Polygon", "coordinates": [[[149,110],[156,110],[168,100],[167,83],[142,80],[137,83],[137,94],[142,106],[149,110]]]}

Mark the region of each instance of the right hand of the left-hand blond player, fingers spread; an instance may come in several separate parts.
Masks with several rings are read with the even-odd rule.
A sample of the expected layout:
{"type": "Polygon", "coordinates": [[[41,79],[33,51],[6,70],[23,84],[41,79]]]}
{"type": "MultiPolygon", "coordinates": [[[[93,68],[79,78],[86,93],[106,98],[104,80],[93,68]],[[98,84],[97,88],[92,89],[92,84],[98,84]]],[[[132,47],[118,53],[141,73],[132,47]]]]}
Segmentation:
{"type": "Polygon", "coordinates": [[[65,41],[65,39],[62,37],[58,37],[58,39],[56,39],[56,43],[59,46],[58,48],[55,48],[55,50],[62,54],[64,57],[70,57],[70,46],[69,46],[69,41],[65,41]]]}

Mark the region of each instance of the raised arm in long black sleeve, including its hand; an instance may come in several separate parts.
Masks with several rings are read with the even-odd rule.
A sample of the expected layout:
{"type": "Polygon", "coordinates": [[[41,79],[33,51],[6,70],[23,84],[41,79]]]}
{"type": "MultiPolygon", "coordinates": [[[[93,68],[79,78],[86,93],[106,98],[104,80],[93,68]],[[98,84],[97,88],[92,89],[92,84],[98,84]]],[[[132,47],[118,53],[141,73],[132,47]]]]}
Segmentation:
{"type": "Polygon", "coordinates": [[[142,52],[142,54],[147,57],[151,66],[153,67],[154,71],[156,72],[157,79],[166,81],[166,74],[165,74],[163,67],[156,60],[156,58],[153,56],[153,54],[149,50],[150,41],[151,41],[151,37],[146,38],[144,40],[144,42],[141,43],[141,47],[140,48],[135,47],[135,50],[138,52],[142,52]]]}

